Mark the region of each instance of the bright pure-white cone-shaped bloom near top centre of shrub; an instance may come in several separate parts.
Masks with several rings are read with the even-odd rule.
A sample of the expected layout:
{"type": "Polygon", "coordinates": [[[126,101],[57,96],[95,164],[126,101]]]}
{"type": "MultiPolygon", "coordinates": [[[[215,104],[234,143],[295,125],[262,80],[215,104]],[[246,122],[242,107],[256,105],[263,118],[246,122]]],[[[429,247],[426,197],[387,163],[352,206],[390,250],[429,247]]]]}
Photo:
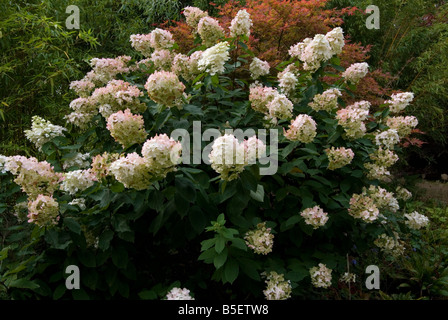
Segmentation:
{"type": "Polygon", "coordinates": [[[205,50],[198,61],[198,69],[212,76],[223,73],[224,65],[230,59],[229,48],[229,43],[224,41],[205,50]]]}

